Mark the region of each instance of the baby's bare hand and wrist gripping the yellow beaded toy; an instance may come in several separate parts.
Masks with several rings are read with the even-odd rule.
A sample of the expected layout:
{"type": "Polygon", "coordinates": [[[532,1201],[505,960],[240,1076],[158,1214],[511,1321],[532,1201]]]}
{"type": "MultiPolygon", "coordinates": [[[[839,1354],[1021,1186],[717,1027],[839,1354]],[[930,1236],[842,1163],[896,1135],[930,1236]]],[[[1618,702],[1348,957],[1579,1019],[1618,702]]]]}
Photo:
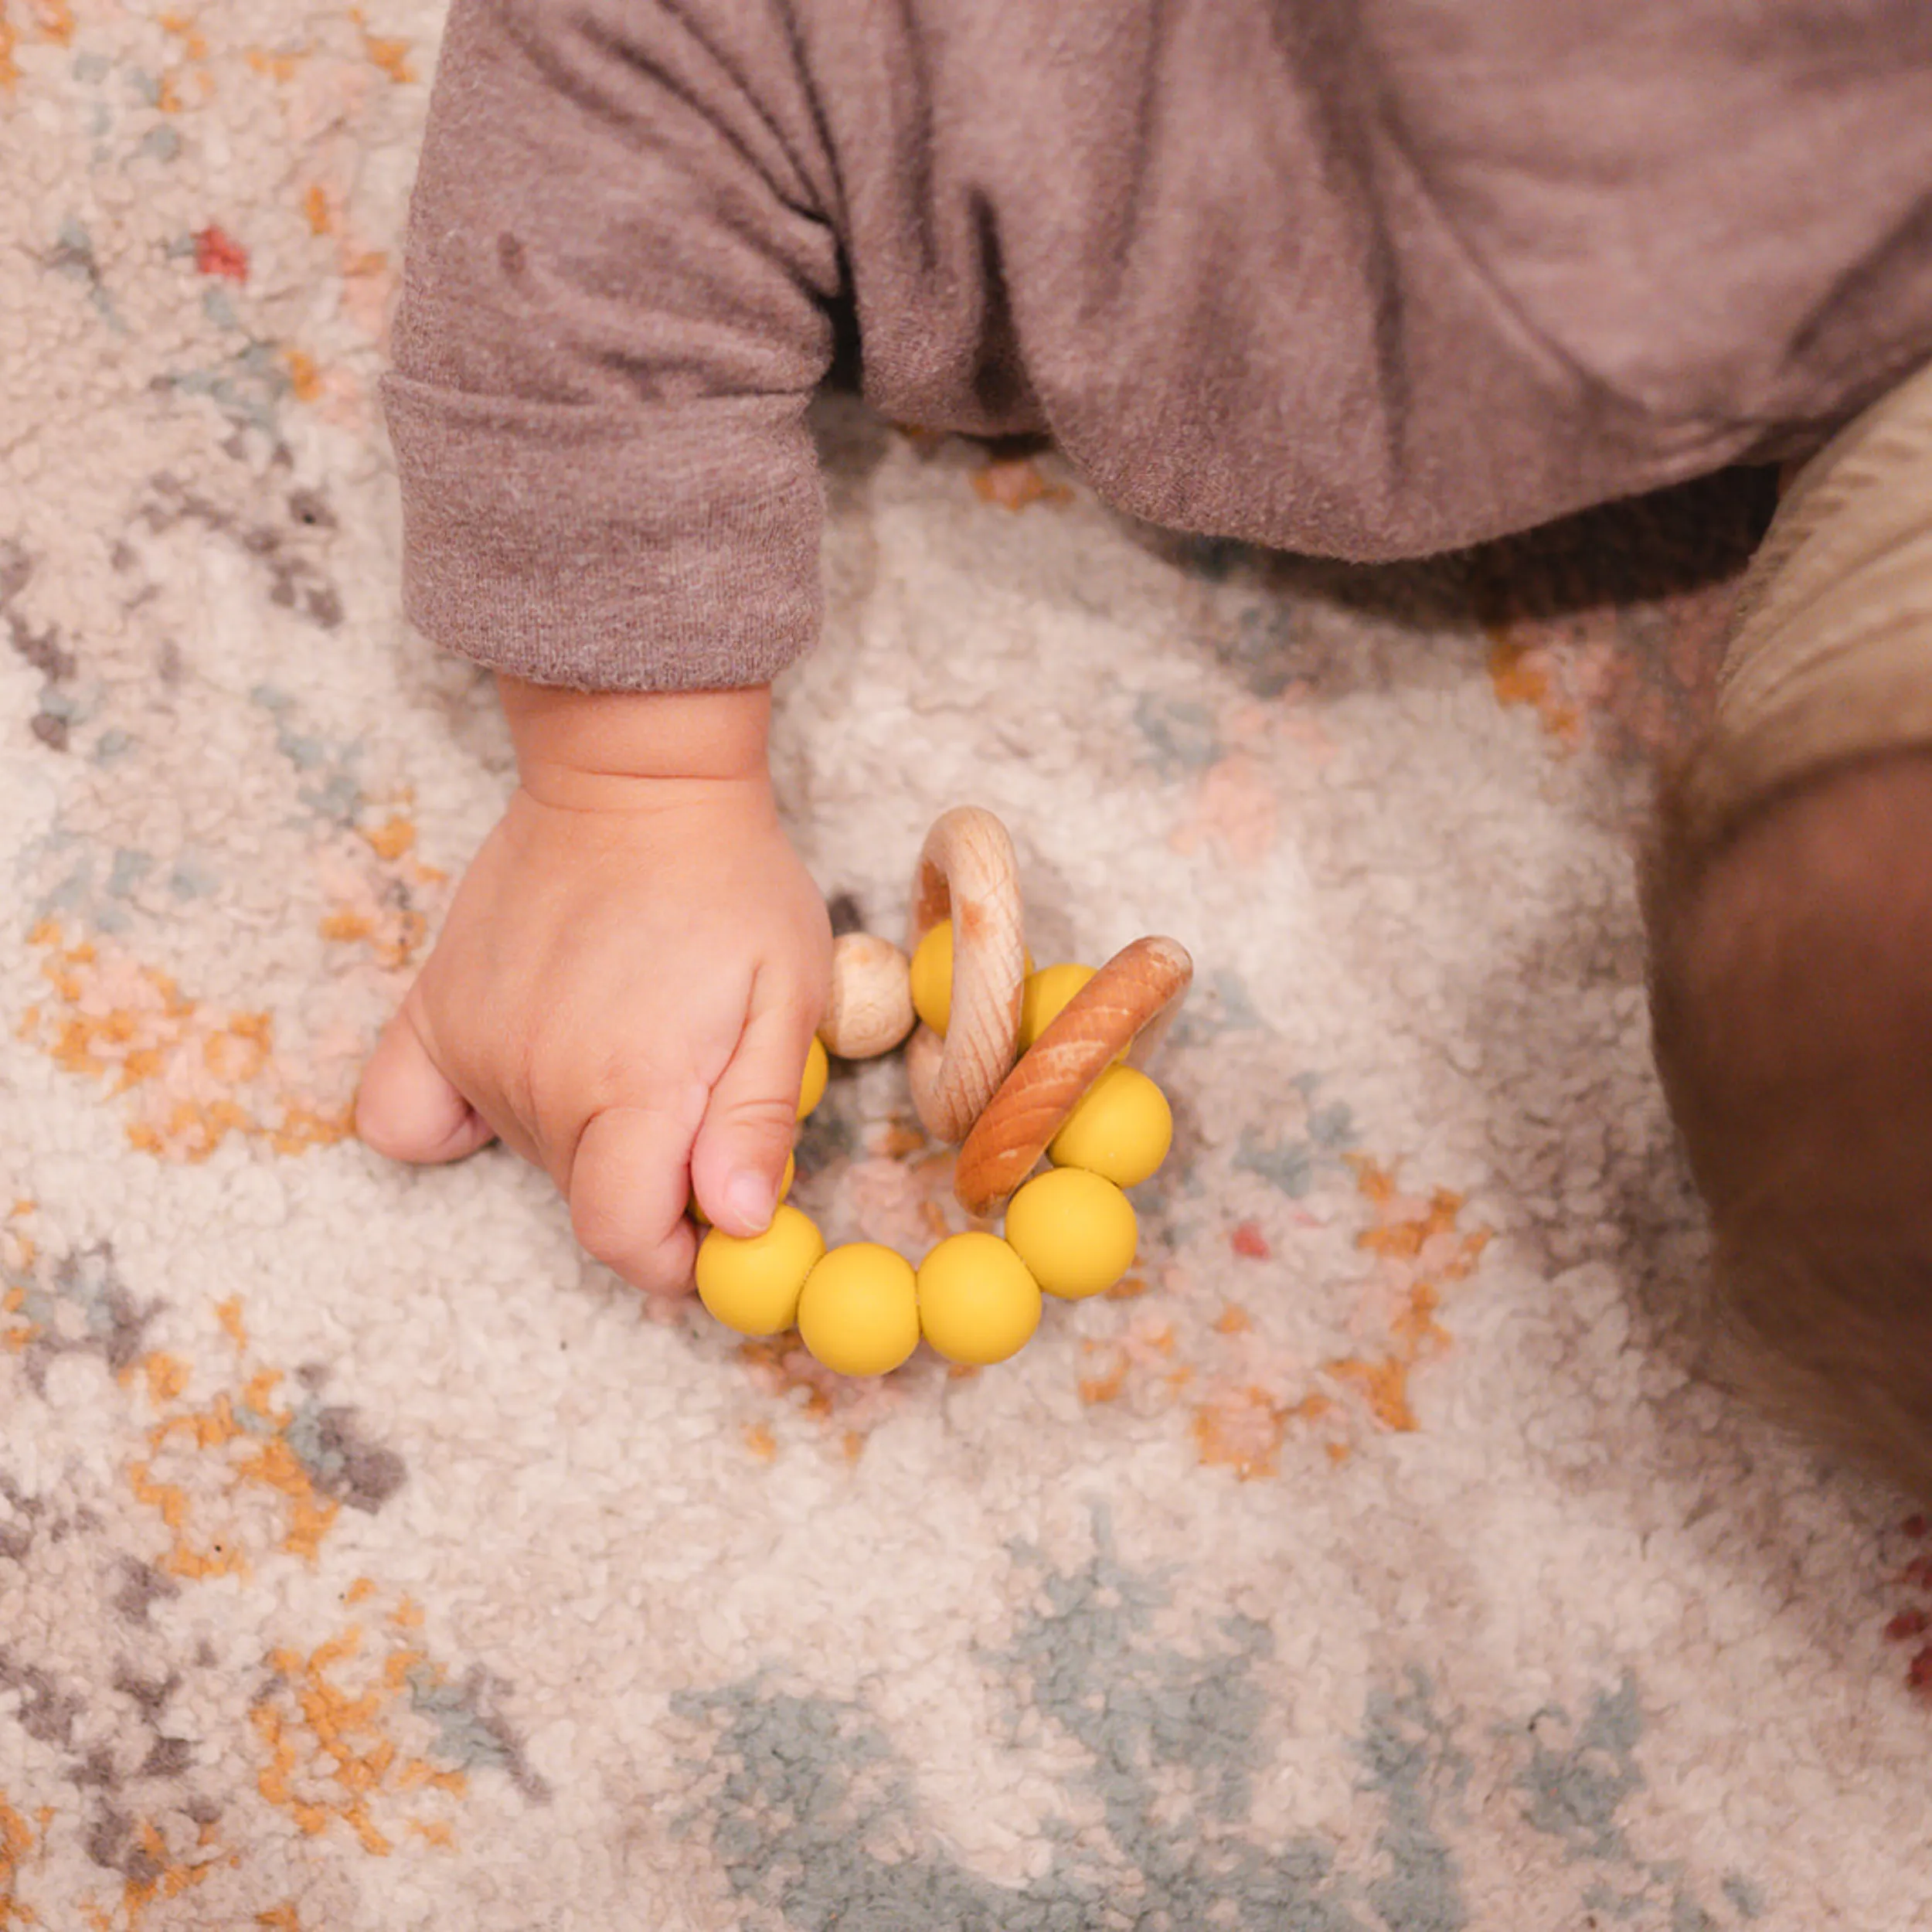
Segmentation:
{"type": "Polygon", "coordinates": [[[825,902],[779,825],[765,692],[504,680],[522,786],[383,1034],[361,1138],[452,1161],[500,1136],[641,1289],[692,1275],[696,1192],[761,1229],[825,1009],[825,902]]]}

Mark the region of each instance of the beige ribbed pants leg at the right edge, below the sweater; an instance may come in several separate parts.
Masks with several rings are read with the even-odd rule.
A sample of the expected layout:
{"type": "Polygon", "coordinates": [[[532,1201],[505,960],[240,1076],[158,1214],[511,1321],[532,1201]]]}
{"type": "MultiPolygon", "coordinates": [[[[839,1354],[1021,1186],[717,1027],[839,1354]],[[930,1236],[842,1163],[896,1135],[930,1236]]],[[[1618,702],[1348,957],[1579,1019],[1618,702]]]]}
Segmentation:
{"type": "Polygon", "coordinates": [[[1932,367],[1799,473],[1745,578],[1679,831],[1874,752],[1932,748],[1932,367]]]}

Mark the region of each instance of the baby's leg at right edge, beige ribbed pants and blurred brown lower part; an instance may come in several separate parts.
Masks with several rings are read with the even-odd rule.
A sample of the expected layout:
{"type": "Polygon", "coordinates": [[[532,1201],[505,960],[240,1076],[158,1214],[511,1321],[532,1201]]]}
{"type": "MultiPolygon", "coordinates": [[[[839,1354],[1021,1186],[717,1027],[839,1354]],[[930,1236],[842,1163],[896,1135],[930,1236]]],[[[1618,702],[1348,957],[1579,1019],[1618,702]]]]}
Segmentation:
{"type": "Polygon", "coordinates": [[[1932,1499],[1932,371],[1785,498],[1646,912],[1731,1366],[1932,1499]]]}

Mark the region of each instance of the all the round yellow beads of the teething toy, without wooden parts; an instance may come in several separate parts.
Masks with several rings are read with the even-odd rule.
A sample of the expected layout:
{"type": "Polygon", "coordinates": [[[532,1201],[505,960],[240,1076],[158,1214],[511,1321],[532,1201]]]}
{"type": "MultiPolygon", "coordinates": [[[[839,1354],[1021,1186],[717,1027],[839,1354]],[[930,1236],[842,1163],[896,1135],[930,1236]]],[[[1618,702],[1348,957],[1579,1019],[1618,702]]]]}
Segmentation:
{"type": "MultiPolygon", "coordinates": [[[[1076,964],[1028,972],[1022,1047],[1092,976],[1090,966],[1076,964]]],[[[949,923],[925,935],[908,978],[914,1010],[933,1032],[945,1032],[949,923]]],[[[825,1047],[813,1039],[800,1119],[823,1099],[827,1076],[825,1047]]],[[[889,1374],[922,1339],[949,1362],[1005,1362],[1039,1327],[1043,1294],[1084,1300],[1132,1267],[1140,1225],[1124,1188],[1148,1180],[1171,1142],[1167,1097],[1138,1068],[1115,1065],[1061,1124],[1047,1148],[1053,1165],[1007,1204],[1003,1236],[951,1235],[914,1267],[877,1242],[827,1248],[810,1215],[781,1206],[765,1233],[750,1238],[709,1229],[697,1248],[697,1294],[740,1335],[796,1327],[806,1349],[842,1376],[889,1374]]]]}

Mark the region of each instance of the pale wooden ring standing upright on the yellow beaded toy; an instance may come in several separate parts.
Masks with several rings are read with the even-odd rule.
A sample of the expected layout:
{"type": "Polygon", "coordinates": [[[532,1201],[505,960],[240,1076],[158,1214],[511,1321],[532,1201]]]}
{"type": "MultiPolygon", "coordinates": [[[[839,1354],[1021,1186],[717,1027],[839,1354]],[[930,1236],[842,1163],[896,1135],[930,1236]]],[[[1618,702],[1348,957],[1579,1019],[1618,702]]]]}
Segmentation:
{"type": "Polygon", "coordinates": [[[952,1012],[945,1041],[922,1026],[906,1047],[920,1124],[960,1142],[1012,1068],[1026,989],[1020,866],[1007,827],[980,806],[943,813],[912,877],[908,954],[952,922],[952,1012]]]}

